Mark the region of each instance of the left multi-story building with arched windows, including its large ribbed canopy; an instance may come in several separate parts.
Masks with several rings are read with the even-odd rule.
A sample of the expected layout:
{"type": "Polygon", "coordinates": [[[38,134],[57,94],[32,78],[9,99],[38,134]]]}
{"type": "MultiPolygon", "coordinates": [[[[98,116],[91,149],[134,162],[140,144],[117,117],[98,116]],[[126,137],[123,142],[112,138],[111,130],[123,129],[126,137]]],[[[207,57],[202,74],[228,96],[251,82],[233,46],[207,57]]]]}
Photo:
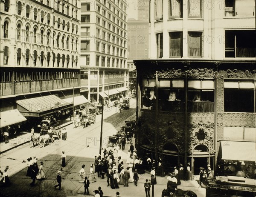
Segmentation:
{"type": "Polygon", "coordinates": [[[80,89],[80,0],[4,0],[0,16],[1,111],[65,114],[80,89]]]}

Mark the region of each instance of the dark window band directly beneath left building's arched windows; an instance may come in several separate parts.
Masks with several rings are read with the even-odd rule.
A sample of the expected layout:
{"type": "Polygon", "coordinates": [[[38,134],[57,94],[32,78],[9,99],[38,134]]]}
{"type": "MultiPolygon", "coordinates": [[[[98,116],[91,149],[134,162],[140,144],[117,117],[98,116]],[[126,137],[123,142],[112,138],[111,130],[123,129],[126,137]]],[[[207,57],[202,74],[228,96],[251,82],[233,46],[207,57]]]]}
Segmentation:
{"type": "MultiPolygon", "coordinates": [[[[28,80],[52,80],[78,78],[78,72],[18,72],[15,73],[15,81],[28,80]]],[[[11,82],[12,72],[3,71],[0,73],[0,82],[11,82]]]]}

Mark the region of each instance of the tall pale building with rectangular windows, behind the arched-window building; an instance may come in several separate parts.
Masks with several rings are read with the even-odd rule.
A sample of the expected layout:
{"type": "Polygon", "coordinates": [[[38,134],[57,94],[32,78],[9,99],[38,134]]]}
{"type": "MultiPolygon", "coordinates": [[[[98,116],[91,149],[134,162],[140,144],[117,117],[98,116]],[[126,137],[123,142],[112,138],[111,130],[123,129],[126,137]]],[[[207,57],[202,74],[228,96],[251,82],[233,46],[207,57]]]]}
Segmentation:
{"type": "Polygon", "coordinates": [[[126,6],[123,0],[81,1],[80,86],[91,102],[127,93],[126,6]]]}

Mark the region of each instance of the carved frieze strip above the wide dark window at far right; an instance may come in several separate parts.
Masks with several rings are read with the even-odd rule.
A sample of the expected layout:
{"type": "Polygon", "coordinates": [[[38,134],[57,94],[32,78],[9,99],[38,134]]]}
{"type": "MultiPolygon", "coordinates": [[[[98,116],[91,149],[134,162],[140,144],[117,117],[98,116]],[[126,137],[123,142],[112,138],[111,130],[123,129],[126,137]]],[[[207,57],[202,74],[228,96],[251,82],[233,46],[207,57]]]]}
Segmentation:
{"type": "Polygon", "coordinates": [[[256,69],[251,70],[238,70],[238,69],[227,69],[223,71],[224,78],[256,78],[256,69]]]}

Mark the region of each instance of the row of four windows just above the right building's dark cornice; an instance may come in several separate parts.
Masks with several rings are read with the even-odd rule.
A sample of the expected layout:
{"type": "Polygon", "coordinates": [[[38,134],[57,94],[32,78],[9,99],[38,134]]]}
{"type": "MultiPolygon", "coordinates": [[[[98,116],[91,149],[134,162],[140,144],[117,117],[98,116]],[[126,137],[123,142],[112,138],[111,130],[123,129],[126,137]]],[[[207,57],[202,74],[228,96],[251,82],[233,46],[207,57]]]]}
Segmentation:
{"type": "MultiPolygon", "coordinates": [[[[202,32],[188,31],[188,56],[202,57],[202,32]]],[[[163,57],[163,33],[156,34],[157,58],[163,57]]],[[[255,30],[226,30],[225,57],[256,57],[255,30]]],[[[169,57],[183,57],[183,32],[169,32],[169,57]]]]}

